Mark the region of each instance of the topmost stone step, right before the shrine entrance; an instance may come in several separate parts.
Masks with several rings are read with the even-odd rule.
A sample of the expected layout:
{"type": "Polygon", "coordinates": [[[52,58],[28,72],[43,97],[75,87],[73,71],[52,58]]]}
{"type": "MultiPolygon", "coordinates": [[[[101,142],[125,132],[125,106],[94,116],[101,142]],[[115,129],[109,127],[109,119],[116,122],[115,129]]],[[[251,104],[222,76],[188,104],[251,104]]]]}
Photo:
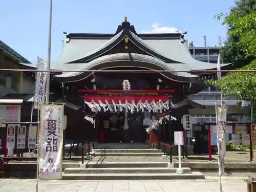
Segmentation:
{"type": "Polygon", "coordinates": [[[95,148],[95,153],[162,153],[160,149],[151,148],[95,148]]]}

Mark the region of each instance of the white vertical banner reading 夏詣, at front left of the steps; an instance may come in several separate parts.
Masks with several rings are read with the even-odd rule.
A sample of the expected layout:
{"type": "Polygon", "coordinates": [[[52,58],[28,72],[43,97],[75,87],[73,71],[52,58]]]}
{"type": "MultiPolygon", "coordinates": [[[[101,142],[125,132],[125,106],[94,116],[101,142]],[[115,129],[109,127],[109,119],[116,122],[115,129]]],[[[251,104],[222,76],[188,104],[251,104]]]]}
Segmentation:
{"type": "Polygon", "coordinates": [[[62,178],[63,105],[41,105],[39,178],[62,178]]]}

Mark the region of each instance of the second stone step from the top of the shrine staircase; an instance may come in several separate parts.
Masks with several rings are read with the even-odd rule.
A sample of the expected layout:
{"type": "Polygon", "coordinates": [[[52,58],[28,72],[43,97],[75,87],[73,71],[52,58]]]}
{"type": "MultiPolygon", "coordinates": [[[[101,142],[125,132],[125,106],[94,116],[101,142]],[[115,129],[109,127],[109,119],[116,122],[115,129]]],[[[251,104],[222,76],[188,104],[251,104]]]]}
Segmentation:
{"type": "Polygon", "coordinates": [[[155,152],[155,153],[92,153],[92,156],[146,156],[146,157],[161,157],[163,153],[155,152]]]}

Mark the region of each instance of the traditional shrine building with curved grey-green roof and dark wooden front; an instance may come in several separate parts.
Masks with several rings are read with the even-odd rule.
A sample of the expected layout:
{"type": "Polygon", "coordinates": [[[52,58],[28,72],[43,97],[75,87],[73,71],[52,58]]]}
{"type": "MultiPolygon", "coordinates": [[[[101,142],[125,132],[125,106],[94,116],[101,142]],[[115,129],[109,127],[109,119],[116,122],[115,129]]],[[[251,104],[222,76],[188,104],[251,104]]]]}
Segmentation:
{"type": "MultiPolygon", "coordinates": [[[[205,108],[188,96],[204,89],[217,65],[195,60],[185,33],[139,34],[125,17],[113,34],[65,34],[51,69],[71,72],[52,74],[50,100],[66,103],[67,140],[145,142],[146,118],[166,116],[171,106],[172,132],[182,131],[182,116],[205,108]]],[[[167,128],[161,137],[168,140],[167,128]]]]}

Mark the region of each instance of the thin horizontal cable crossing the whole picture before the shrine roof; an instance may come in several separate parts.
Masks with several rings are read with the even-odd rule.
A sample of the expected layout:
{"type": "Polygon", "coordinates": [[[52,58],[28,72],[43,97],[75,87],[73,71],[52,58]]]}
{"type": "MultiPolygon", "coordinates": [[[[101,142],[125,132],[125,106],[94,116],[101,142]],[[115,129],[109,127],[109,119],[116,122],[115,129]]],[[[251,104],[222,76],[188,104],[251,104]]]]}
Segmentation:
{"type": "Polygon", "coordinates": [[[256,72],[256,70],[154,70],[154,71],[147,71],[147,70],[36,70],[36,69],[0,69],[0,71],[19,71],[19,72],[55,72],[55,73],[82,73],[82,72],[91,72],[91,73],[200,73],[200,72],[207,72],[207,73],[215,73],[215,72],[246,72],[252,73],[256,72]]]}

